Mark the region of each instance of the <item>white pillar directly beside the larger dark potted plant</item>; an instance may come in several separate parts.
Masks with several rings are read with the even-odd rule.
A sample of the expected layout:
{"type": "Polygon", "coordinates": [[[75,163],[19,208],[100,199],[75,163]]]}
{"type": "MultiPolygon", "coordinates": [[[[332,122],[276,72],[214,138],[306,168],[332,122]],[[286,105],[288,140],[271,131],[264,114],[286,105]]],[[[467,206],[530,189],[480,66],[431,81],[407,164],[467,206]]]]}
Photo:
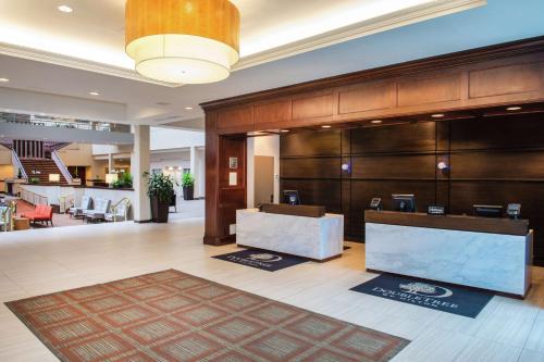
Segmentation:
{"type": "Polygon", "coordinates": [[[147,178],[144,172],[149,172],[149,126],[134,126],[134,149],[131,154],[131,167],[134,187],[134,221],[136,223],[151,220],[151,207],[147,196],[147,178]]]}

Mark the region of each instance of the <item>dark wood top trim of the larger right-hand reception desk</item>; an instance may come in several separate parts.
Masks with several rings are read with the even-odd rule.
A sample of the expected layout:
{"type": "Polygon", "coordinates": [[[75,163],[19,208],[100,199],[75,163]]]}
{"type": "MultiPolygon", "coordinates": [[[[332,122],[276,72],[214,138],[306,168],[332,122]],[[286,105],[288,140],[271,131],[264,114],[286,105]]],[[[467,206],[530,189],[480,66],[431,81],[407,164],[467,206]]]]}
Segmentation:
{"type": "Polygon", "coordinates": [[[374,224],[441,228],[460,232],[491,233],[526,236],[529,221],[465,215],[435,216],[424,213],[395,211],[364,211],[364,222],[374,224]]]}

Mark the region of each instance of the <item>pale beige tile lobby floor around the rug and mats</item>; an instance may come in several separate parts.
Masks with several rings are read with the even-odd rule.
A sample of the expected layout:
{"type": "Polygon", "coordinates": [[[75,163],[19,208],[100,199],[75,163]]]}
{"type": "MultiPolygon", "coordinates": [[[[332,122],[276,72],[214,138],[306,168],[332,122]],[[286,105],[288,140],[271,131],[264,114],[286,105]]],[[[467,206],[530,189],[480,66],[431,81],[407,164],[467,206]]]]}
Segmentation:
{"type": "MultiPolygon", "coordinates": [[[[394,361],[544,362],[544,269],[521,301],[494,297],[475,319],[348,290],[371,277],[363,245],[327,263],[275,273],[212,259],[234,246],[202,245],[197,203],[170,224],[100,224],[0,234],[0,301],[176,269],[267,298],[408,338],[394,361]]],[[[0,361],[55,358],[0,304],[0,361]]]]}

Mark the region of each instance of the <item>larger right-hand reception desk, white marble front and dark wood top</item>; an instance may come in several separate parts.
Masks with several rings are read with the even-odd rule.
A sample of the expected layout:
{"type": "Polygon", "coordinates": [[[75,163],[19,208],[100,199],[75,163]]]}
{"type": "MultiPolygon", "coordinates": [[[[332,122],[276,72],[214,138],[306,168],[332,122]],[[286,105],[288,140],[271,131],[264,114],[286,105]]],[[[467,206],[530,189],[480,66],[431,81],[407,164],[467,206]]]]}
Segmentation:
{"type": "Polygon", "coordinates": [[[366,267],[524,297],[527,220],[366,211],[366,267]]]}

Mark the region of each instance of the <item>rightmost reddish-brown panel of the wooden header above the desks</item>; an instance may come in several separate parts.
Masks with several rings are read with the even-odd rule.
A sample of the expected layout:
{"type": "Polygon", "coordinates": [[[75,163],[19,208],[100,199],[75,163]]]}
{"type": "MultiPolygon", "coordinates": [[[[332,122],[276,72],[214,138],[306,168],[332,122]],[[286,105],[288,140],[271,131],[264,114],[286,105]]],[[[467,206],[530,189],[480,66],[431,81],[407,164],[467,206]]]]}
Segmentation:
{"type": "Polygon", "coordinates": [[[544,62],[512,64],[470,72],[470,98],[542,90],[544,62]]]}

